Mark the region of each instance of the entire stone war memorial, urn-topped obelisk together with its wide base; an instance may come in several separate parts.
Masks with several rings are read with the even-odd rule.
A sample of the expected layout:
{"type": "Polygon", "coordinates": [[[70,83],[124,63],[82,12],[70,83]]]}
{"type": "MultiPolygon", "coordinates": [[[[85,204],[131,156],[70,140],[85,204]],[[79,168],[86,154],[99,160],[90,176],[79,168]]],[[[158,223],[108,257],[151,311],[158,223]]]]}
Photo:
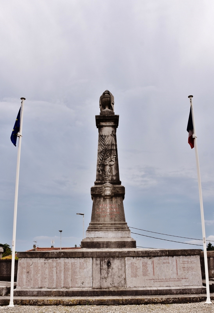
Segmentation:
{"type": "Polygon", "coordinates": [[[199,249],[138,249],[125,220],[114,97],[100,97],[91,222],[81,249],[18,252],[16,296],[123,296],[206,293],[199,249]]]}

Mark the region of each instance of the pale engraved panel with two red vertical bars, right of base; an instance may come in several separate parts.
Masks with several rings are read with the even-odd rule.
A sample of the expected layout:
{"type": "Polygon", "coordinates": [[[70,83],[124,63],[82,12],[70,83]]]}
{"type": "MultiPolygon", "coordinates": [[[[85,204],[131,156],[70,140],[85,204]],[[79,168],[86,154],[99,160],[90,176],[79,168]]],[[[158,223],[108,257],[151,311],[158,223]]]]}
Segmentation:
{"type": "Polygon", "coordinates": [[[127,257],[127,287],[202,285],[198,255],[127,257]]]}

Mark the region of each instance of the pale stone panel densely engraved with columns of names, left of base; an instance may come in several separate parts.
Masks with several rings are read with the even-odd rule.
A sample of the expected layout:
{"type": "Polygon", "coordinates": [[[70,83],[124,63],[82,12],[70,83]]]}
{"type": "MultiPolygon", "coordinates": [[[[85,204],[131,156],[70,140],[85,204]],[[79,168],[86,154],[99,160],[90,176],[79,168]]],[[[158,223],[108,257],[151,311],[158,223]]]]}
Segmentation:
{"type": "Polygon", "coordinates": [[[20,258],[18,288],[91,288],[92,258],[20,258]]]}

